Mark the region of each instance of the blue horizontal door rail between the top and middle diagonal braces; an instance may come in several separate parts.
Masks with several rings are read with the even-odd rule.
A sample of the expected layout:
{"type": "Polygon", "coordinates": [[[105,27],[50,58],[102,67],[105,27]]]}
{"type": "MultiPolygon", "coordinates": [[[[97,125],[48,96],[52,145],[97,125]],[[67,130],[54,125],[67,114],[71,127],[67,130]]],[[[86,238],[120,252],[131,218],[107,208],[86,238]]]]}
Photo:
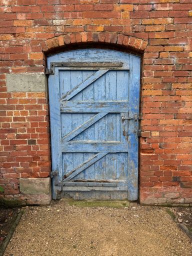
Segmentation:
{"type": "Polygon", "coordinates": [[[66,113],[95,113],[95,112],[127,112],[128,101],[100,100],[100,101],[62,101],[60,111],[66,113]]]}

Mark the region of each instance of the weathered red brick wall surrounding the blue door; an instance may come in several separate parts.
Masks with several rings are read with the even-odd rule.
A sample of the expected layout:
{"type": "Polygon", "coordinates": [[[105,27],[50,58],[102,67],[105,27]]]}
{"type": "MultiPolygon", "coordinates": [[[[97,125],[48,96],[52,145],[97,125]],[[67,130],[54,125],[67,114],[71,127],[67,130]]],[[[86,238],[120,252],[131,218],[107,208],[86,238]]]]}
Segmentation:
{"type": "Polygon", "coordinates": [[[68,43],[118,42],[140,54],[146,41],[140,201],[192,204],[192,3],[152,2],[0,0],[0,199],[30,199],[20,194],[18,178],[50,170],[47,95],[6,92],[5,74],[43,72],[46,52],[68,43]]]}

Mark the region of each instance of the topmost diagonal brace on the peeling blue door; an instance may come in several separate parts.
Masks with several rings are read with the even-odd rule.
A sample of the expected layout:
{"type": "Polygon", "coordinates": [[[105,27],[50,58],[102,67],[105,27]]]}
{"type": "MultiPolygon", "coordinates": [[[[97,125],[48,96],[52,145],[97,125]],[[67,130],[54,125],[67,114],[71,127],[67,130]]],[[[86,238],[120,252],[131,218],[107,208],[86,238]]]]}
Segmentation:
{"type": "Polygon", "coordinates": [[[76,85],[75,87],[73,87],[71,90],[69,90],[66,94],[64,94],[60,101],[63,100],[69,100],[70,98],[72,98],[74,95],[76,95],[77,93],[79,93],[81,90],[83,90],[84,88],[86,88],[89,84],[91,84],[92,82],[94,82],[96,79],[98,79],[100,76],[102,76],[104,73],[106,73],[108,71],[108,69],[106,70],[98,70],[96,71],[94,74],[90,75],[89,77],[87,77],[84,81],[80,82],[78,85],[76,85]]]}

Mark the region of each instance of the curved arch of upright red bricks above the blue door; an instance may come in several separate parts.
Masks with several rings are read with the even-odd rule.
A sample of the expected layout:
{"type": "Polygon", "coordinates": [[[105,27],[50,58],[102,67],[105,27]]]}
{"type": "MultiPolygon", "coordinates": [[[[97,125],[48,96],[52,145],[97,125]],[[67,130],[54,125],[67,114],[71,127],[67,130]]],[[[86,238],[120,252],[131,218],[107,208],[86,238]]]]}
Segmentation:
{"type": "Polygon", "coordinates": [[[130,48],[133,51],[142,53],[147,46],[147,40],[136,38],[120,33],[109,32],[76,32],[59,35],[40,42],[42,51],[46,54],[52,50],[63,48],[69,44],[78,45],[82,43],[106,43],[116,46],[130,48]]]}

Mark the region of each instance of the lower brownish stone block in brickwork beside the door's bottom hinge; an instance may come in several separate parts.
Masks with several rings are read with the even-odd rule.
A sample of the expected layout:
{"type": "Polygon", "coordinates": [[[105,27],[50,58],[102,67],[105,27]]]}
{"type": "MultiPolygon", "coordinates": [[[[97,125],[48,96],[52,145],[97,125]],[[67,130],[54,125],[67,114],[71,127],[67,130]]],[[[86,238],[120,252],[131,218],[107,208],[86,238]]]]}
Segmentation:
{"type": "Polygon", "coordinates": [[[50,194],[50,178],[19,178],[22,194],[50,194]]]}

